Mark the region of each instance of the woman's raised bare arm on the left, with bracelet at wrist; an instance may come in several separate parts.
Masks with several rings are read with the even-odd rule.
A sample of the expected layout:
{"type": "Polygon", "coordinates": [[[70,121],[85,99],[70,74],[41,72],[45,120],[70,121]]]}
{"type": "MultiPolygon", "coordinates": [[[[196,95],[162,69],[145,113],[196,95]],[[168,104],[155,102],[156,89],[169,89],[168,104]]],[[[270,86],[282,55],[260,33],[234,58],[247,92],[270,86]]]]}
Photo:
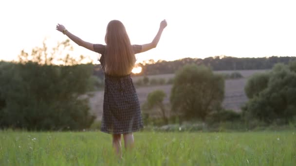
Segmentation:
{"type": "Polygon", "coordinates": [[[72,41],[74,41],[78,46],[82,46],[88,50],[93,50],[93,44],[83,41],[82,39],[80,39],[79,37],[75,36],[74,34],[70,33],[68,30],[66,30],[66,28],[61,25],[61,24],[57,24],[56,25],[56,30],[59,32],[64,33],[65,35],[67,35],[72,41]]]}

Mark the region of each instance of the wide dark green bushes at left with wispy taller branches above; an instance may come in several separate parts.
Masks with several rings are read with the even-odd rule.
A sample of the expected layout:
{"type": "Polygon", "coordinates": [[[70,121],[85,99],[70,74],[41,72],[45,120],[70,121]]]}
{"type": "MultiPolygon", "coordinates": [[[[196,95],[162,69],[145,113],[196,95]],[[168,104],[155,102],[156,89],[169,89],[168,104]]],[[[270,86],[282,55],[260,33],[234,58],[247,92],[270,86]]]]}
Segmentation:
{"type": "Polygon", "coordinates": [[[70,56],[59,62],[72,66],[53,65],[55,49],[68,44],[49,56],[43,42],[31,55],[22,51],[20,63],[0,63],[0,128],[78,130],[92,124],[85,94],[94,90],[93,65],[78,65],[70,56]]]}

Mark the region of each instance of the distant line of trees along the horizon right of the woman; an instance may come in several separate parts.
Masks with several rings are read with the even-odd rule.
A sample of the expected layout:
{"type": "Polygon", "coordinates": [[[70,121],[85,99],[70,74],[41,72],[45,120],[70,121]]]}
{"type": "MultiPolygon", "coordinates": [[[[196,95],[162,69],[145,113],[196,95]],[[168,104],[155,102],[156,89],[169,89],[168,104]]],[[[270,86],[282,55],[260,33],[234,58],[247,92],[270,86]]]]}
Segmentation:
{"type": "Polygon", "coordinates": [[[236,58],[216,56],[205,59],[184,58],[175,61],[154,62],[150,60],[149,64],[139,64],[142,67],[142,72],[137,75],[172,74],[186,64],[204,65],[210,67],[212,70],[271,69],[277,63],[288,64],[292,60],[296,60],[296,57],[236,58]]]}

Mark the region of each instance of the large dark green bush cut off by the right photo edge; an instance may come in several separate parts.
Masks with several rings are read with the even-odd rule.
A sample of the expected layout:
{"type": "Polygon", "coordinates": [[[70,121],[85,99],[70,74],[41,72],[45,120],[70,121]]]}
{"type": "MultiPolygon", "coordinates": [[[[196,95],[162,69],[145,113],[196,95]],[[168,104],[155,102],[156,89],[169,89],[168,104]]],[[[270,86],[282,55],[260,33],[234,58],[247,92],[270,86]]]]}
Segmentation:
{"type": "Polygon", "coordinates": [[[252,97],[242,108],[247,118],[258,118],[266,123],[275,120],[288,123],[296,116],[295,64],[277,64],[268,74],[251,78],[252,82],[258,84],[246,88],[246,94],[252,97]],[[263,76],[268,76],[268,79],[263,76]],[[253,92],[248,92],[248,89],[253,89],[253,92]]]}

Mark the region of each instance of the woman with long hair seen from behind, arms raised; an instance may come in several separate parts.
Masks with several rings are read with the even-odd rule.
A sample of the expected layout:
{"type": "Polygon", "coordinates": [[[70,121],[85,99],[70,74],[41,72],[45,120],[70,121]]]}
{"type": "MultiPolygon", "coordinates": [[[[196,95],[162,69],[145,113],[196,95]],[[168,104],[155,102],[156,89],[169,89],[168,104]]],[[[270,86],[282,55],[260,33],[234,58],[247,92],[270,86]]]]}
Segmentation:
{"type": "Polygon", "coordinates": [[[158,33],[151,43],[131,45],[124,25],[112,20],[107,26],[106,45],[83,41],[70,33],[63,25],[57,24],[56,30],[67,35],[79,46],[101,54],[100,63],[105,72],[105,92],[101,131],[112,134],[112,145],[121,156],[121,134],[125,148],[134,144],[133,132],[143,128],[140,103],[130,73],[135,65],[135,54],[157,46],[166,20],[161,21],[158,33]]]}

